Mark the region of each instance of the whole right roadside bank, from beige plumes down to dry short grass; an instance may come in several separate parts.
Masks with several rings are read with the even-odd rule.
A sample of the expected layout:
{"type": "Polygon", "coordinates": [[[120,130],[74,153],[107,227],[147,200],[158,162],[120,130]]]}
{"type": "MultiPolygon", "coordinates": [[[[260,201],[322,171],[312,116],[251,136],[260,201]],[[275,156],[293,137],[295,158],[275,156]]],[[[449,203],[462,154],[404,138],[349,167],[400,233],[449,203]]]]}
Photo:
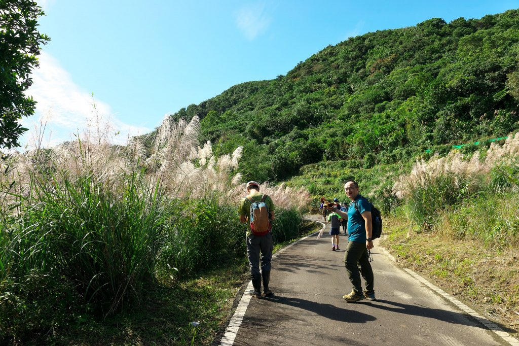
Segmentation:
{"type": "Polygon", "coordinates": [[[519,329],[519,132],[484,155],[418,161],[393,193],[392,254],[519,329]]]}

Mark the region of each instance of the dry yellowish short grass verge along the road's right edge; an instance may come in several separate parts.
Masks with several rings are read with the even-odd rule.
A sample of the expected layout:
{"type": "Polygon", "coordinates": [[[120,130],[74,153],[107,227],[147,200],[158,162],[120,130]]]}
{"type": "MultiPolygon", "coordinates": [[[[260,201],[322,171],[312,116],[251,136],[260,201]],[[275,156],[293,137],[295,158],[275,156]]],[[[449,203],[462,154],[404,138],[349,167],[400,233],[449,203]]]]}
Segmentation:
{"type": "Polygon", "coordinates": [[[483,314],[519,329],[519,254],[516,248],[489,248],[437,232],[418,233],[403,219],[388,218],[382,246],[403,267],[433,277],[483,314]]]}

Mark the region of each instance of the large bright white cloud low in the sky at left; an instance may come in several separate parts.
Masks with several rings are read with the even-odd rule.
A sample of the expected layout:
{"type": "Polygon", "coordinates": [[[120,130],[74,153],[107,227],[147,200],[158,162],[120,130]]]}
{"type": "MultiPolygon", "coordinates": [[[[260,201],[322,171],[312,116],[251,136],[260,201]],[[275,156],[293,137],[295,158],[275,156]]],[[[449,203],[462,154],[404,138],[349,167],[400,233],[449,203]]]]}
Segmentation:
{"type": "Polygon", "coordinates": [[[38,57],[39,68],[32,73],[33,85],[26,91],[37,102],[35,114],[23,118],[21,124],[29,128],[21,138],[22,145],[31,146],[35,139],[42,137],[44,147],[74,139],[74,134],[89,126],[95,130],[111,133],[113,142],[125,144],[128,136],[145,134],[150,129],[121,122],[113,114],[110,105],[93,99],[72,80],[59,62],[42,51],[38,57]],[[95,104],[95,107],[94,107],[95,104]],[[45,125],[45,132],[39,134],[45,125]],[[117,135],[115,135],[119,132],[117,135]]]}

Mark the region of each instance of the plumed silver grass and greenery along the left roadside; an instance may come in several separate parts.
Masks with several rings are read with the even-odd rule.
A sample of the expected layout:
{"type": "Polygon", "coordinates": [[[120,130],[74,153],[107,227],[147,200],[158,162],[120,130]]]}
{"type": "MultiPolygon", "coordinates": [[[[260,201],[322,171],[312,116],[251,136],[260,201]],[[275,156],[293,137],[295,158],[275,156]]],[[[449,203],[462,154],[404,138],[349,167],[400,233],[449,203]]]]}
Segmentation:
{"type": "MultiPolygon", "coordinates": [[[[235,172],[241,148],[216,157],[210,143],[198,147],[198,132],[197,117],[168,116],[148,147],[138,139],[117,147],[97,131],[2,162],[0,341],[60,340],[63,330],[139,316],[154,299],[185,303],[195,291],[200,309],[212,312],[186,308],[168,323],[175,327],[167,340],[183,342],[189,319],[228,313],[228,304],[210,301],[213,293],[230,299],[243,280],[245,225],[236,210],[244,185],[235,172]],[[230,283],[221,277],[212,287],[200,276],[223,264],[230,283]]],[[[276,242],[297,237],[307,192],[261,188],[279,206],[276,242]]],[[[202,325],[209,343],[220,322],[202,325]]],[[[126,332],[138,340],[136,330],[126,332]]]]}

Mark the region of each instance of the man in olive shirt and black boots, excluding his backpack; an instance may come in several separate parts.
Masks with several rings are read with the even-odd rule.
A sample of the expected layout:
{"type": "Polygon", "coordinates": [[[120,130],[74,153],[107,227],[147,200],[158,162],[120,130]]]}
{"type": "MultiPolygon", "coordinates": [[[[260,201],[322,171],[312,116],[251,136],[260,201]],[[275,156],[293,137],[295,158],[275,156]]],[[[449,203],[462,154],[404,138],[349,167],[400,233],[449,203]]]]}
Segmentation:
{"type": "MultiPolygon", "coordinates": [[[[260,184],[255,181],[247,183],[248,197],[254,201],[259,202],[263,197],[260,192],[260,184]]],[[[249,257],[249,267],[251,270],[251,280],[254,286],[254,291],[250,293],[256,297],[261,297],[261,283],[263,279],[263,294],[265,296],[272,296],[272,292],[268,288],[270,282],[270,261],[272,260],[272,232],[269,231],[265,235],[255,235],[252,233],[251,226],[248,223],[251,217],[251,201],[247,197],[242,198],[240,206],[238,207],[238,214],[240,214],[240,222],[247,223],[247,256],[249,257]],[[260,258],[261,252],[261,258],[260,258]],[[260,259],[261,259],[261,273],[260,273],[260,259]]],[[[274,221],[274,202],[269,196],[265,198],[270,213],[270,221],[274,221]]]]}

